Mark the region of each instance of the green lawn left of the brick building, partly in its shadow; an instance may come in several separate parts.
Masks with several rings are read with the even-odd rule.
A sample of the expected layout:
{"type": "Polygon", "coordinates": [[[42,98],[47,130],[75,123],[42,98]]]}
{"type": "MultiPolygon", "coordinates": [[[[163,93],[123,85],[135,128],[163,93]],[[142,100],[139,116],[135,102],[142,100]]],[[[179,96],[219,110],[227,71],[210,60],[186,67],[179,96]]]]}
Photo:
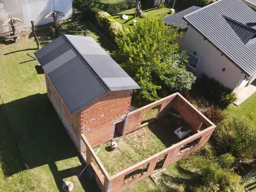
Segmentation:
{"type": "MultiPolygon", "coordinates": [[[[79,26],[106,50],[113,49],[89,23],[79,26]]],[[[43,46],[50,42],[39,39],[43,46]]],[[[77,177],[85,164],[47,98],[38,61],[27,55],[36,51],[34,38],[21,37],[0,47],[0,94],[5,102],[0,106],[0,191],[35,191],[31,178],[39,191],[62,191],[67,180],[74,183],[74,191],[99,191],[95,181],[77,177]]]]}

